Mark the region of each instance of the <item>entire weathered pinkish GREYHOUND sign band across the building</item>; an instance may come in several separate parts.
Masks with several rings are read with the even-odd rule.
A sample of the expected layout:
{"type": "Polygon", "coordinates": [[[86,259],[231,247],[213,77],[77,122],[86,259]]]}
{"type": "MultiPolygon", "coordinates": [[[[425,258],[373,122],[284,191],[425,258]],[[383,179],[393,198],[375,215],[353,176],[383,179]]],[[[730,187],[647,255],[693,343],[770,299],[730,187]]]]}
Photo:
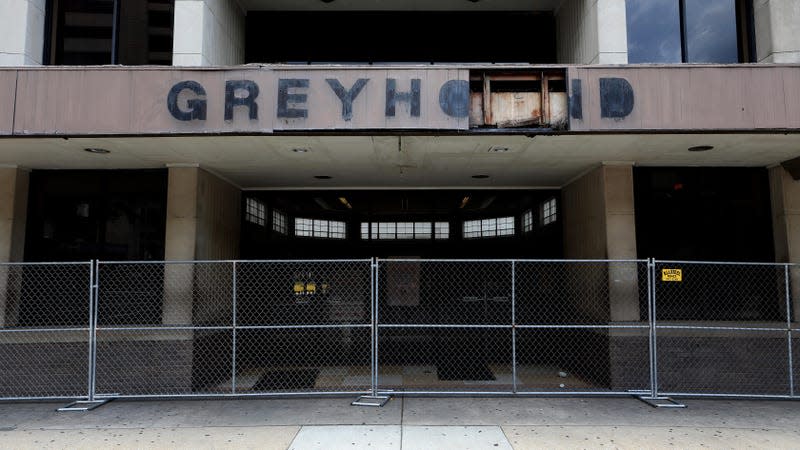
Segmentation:
{"type": "MultiPolygon", "coordinates": [[[[569,67],[569,129],[800,129],[798,68],[569,67]]],[[[565,128],[565,94],[547,88],[559,70],[511,72],[542,88],[494,91],[503,77],[483,68],[0,69],[0,135],[565,128]]]]}

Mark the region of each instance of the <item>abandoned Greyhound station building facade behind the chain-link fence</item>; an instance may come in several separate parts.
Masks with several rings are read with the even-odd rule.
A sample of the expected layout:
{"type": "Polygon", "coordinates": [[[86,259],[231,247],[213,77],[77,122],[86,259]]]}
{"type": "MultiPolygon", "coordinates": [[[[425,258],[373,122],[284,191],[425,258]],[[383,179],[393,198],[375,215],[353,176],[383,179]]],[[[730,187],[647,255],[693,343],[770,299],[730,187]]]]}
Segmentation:
{"type": "MultiPolygon", "coordinates": [[[[794,0],[3,8],[0,261],[800,262],[794,0]]],[[[580,312],[571,317],[646,321],[641,274],[606,275],[598,304],[562,299],[580,312]]],[[[120,311],[208,323],[214,308],[170,276],[197,275],[165,270],[155,309],[126,297],[120,311]]],[[[55,297],[15,306],[18,287],[3,277],[1,327],[72,314],[55,297]]],[[[800,272],[790,281],[795,312],[757,299],[723,312],[676,301],[661,314],[790,319],[800,272]]],[[[403,295],[418,304],[418,292],[403,295]]],[[[557,321],[547,314],[559,308],[534,321],[557,321]]],[[[130,323],[120,314],[115,323],[130,323]]],[[[628,343],[647,346],[623,331],[598,344],[612,361],[605,384],[625,385],[628,343]]],[[[162,349],[152,366],[197,390],[197,349],[220,341],[173,334],[151,336],[162,349]]]]}

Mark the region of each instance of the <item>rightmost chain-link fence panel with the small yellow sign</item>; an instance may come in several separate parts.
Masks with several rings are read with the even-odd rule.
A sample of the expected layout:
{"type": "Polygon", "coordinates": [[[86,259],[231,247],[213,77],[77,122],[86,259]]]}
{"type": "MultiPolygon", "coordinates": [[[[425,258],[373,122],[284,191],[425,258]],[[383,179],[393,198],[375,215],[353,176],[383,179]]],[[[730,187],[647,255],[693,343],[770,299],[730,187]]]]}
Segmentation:
{"type": "Polygon", "coordinates": [[[790,395],[785,265],[658,261],[654,275],[659,393],[790,395]]]}

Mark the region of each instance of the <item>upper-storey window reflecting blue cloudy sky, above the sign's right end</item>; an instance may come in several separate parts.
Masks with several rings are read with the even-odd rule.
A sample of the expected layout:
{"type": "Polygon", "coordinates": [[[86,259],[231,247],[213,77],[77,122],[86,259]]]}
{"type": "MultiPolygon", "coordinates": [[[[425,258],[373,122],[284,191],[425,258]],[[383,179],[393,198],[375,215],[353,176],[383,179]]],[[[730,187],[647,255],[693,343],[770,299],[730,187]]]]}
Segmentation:
{"type": "Polygon", "coordinates": [[[745,0],[626,0],[628,62],[747,62],[745,0]]]}

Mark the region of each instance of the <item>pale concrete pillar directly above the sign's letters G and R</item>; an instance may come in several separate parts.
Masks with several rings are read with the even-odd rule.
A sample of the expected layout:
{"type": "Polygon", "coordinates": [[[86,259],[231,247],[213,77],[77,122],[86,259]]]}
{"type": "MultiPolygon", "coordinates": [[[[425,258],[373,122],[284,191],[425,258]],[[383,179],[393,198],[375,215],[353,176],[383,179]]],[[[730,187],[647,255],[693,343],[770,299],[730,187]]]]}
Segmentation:
{"type": "Polygon", "coordinates": [[[244,26],[236,0],[175,0],[172,65],[244,64],[244,26]]]}

